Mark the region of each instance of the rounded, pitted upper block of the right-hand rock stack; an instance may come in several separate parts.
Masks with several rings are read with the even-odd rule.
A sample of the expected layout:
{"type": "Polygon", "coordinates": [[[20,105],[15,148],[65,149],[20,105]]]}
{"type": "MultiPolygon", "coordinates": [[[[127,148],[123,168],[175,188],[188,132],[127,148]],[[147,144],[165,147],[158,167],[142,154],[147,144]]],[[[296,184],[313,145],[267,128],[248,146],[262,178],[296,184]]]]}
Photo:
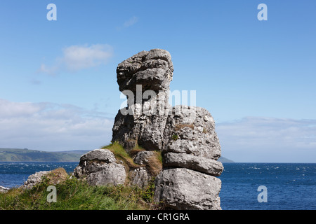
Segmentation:
{"type": "Polygon", "coordinates": [[[192,153],[213,160],[220,157],[220,144],[213,117],[201,107],[173,107],[166,122],[164,139],[164,152],[192,153]]]}

